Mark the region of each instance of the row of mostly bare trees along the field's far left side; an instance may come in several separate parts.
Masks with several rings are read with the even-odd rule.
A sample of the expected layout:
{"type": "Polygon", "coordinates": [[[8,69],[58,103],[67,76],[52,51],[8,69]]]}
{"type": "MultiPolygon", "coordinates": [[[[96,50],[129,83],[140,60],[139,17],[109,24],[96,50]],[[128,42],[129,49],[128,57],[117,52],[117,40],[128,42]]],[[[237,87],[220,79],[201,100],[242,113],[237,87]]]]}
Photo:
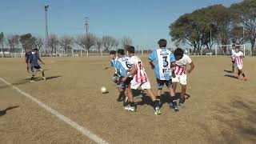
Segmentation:
{"type": "MultiPolygon", "coordinates": [[[[46,53],[54,54],[57,50],[73,50],[74,46],[79,46],[84,50],[90,50],[92,47],[100,51],[109,51],[111,49],[118,49],[118,47],[125,48],[127,45],[132,45],[132,39],[130,37],[114,38],[110,35],[98,38],[94,34],[81,34],[77,36],[64,35],[59,37],[57,34],[50,34],[47,40],[46,53]]],[[[0,46],[2,48],[3,56],[5,57],[5,47],[10,47],[10,51],[17,49],[18,46],[22,46],[22,49],[32,50],[41,48],[46,44],[46,40],[41,36],[33,36],[32,34],[10,34],[5,36],[3,32],[0,33],[0,46]]]]}

